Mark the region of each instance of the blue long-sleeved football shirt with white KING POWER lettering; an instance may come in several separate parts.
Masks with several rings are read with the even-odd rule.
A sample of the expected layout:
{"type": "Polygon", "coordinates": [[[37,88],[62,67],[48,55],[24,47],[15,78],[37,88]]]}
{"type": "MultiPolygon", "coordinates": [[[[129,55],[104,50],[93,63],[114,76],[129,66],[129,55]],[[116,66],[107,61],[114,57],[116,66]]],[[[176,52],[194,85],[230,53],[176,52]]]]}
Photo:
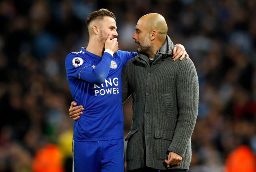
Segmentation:
{"type": "Polygon", "coordinates": [[[136,52],[118,50],[102,58],[84,48],[66,57],[71,94],[83,114],[74,122],[73,139],[98,141],[123,138],[122,68],[136,52]]]}

